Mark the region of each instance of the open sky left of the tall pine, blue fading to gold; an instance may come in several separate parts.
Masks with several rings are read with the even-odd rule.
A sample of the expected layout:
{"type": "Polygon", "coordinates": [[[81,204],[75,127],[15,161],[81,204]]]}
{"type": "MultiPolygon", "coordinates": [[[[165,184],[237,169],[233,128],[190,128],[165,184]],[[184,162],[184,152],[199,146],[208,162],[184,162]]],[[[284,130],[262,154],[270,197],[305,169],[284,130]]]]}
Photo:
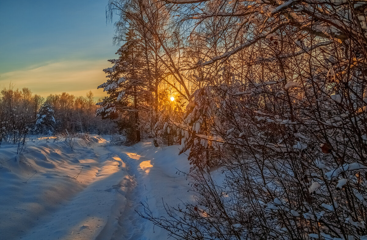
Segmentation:
{"type": "MultiPolygon", "coordinates": [[[[103,68],[116,58],[108,0],[0,0],[0,89],[41,96],[105,96],[103,68]]],[[[117,18],[116,18],[117,19],[117,18]]],[[[115,20],[115,19],[114,19],[115,20]]]]}

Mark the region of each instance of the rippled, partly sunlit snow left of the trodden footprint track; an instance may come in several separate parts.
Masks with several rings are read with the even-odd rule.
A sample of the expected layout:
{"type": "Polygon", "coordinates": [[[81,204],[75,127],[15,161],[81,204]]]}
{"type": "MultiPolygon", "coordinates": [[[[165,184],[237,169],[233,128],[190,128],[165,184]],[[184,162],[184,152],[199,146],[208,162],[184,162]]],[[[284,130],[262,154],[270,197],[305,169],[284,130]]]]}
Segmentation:
{"type": "Polygon", "coordinates": [[[111,187],[127,175],[104,142],[98,136],[71,142],[33,138],[18,157],[17,146],[1,146],[1,238],[93,239],[99,234],[121,195],[111,187]]]}

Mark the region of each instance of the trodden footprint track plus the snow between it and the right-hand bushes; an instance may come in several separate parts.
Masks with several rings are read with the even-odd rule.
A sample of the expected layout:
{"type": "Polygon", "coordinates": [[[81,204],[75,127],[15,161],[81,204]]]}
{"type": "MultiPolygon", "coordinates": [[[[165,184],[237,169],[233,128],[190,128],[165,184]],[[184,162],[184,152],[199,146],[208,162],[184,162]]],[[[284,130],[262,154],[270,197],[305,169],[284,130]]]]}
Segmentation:
{"type": "Polygon", "coordinates": [[[139,143],[133,147],[109,147],[112,153],[119,155],[128,167],[137,185],[128,195],[128,208],[119,218],[120,228],[113,234],[112,240],[161,240],[168,233],[141,218],[137,212],[143,212],[141,202],[149,204],[156,216],[166,215],[163,202],[177,205],[188,200],[190,195],[188,182],[184,175],[177,175],[177,169],[188,172],[189,164],[185,156],[178,156],[178,146],[156,148],[152,143],[139,143]]]}

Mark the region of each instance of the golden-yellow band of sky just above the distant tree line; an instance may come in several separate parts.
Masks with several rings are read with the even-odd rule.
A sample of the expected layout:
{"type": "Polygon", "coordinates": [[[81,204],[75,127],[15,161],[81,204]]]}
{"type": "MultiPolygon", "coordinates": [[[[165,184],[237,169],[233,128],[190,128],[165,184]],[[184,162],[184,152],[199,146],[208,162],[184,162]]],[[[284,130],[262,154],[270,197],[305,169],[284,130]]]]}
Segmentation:
{"type": "Polygon", "coordinates": [[[14,89],[28,87],[33,94],[42,97],[62,92],[86,96],[87,92],[92,91],[97,99],[106,96],[103,89],[97,89],[97,86],[107,80],[102,69],[110,65],[106,60],[54,62],[1,74],[0,87],[8,88],[10,83],[14,89]]]}

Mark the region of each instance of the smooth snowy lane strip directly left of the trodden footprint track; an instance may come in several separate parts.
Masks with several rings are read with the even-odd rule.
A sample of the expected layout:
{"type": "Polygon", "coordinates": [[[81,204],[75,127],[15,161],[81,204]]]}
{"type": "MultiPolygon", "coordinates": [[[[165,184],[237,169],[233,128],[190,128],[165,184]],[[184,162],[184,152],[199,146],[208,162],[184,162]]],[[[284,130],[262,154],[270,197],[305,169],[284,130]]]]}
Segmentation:
{"type": "Polygon", "coordinates": [[[23,239],[93,239],[101,234],[104,226],[114,224],[111,215],[117,214],[126,202],[121,195],[124,193],[122,179],[127,176],[125,164],[104,147],[95,147],[94,154],[98,171],[91,183],[57,211],[41,219],[23,239]]]}

